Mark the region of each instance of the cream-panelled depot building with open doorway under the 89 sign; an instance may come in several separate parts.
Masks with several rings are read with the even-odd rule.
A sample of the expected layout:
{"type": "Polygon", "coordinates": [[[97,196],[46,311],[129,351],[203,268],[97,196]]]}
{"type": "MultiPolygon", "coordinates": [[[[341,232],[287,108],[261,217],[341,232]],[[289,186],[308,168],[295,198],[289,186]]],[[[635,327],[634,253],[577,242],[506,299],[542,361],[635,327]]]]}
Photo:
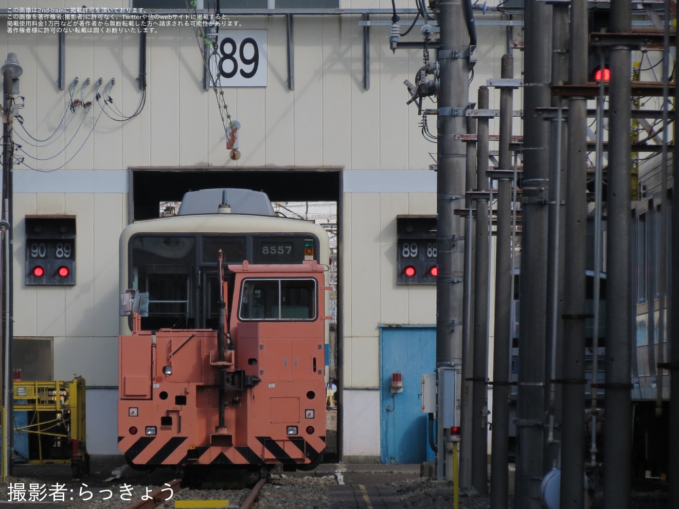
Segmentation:
{"type": "MultiPolygon", "coordinates": [[[[272,202],[336,202],[339,453],[347,462],[430,457],[418,393],[420,375],[435,369],[435,276],[399,282],[399,258],[417,250],[424,265],[436,259],[437,146],[423,135],[416,104],[406,105],[404,85],[423,64],[421,24],[401,37],[412,45],[394,53],[389,0],[222,0],[219,31],[198,30],[217,44],[215,91],[204,65],[210,46],[184,0],[86,5],[0,2],[2,48],[22,68],[14,98],[13,367],[24,379],[83,376],[89,452],[119,454],[122,229],[157,217],[160,202],[189,189],[246,187],[272,202]],[[240,123],[236,160],[229,120],[240,123]],[[67,221],[75,284],[26,284],[27,225],[45,218],[67,221]],[[399,243],[399,229],[409,242],[399,243]],[[403,393],[390,392],[394,372],[403,393]]],[[[213,1],[197,7],[215,14],[213,1]]],[[[404,33],[418,3],[396,7],[404,33]]],[[[486,79],[499,77],[509,41],[522,38],[508,14],[475,16],[471,102],[486,79]]],[[[435,50],[429,56],[435,60],[435,50]]],[[[491,90],[490,108],[498,97],[491,90]]],[[[435,98],[423,107],[436,109],[435,98]]],[[[435,115],[424,131],[436,134],[435,115]]]]}

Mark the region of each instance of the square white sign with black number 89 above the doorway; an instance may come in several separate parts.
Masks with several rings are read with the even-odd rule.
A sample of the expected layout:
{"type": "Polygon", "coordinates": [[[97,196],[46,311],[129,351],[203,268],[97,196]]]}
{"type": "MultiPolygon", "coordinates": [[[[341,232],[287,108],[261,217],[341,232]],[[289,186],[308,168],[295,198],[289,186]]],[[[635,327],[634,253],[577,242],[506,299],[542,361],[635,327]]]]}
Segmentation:
{"type": "Polygon", "coordinates": [[[217,46],[208,46],[210,75],[208,88],[265,87],[267,73],[267,31],[228,30],[219,33],[217,46]],[[214,81],[213,81],[214,80],[214,81]]]}

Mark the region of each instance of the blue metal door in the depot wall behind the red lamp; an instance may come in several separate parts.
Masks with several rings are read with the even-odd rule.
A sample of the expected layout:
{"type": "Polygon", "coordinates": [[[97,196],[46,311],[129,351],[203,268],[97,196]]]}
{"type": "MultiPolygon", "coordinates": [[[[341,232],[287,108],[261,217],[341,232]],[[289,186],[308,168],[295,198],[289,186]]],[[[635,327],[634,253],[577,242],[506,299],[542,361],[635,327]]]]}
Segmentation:
{"type": "Polygon", "coordinates": [[[433,461],[427,414],[422,413],[422,375],[436,367],[435,326],[380,326],[380,436],[382,463],[433,461]],[[403,392],[392,393],[392,373],[403,392]]]}

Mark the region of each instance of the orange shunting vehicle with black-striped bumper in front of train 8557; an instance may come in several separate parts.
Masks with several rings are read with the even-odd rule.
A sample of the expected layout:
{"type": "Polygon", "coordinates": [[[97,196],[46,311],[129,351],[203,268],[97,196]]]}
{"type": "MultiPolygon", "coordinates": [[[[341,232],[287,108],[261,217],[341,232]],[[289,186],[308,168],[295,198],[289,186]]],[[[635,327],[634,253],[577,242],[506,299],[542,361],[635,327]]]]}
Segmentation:
{"type": "MultiPolygon", "coordinates": [[[[323,267],[245,262],[229,268],[236,273],[232,347],[223,358],[216,331],[161,329],[120,337],[118,445],[130,463],[304,466],[320,459],[325,449],[323,267]],[[270,306],[278,319],[241,320],[244,280],[258,278],[268,287],[282,281],[278,295],[282,285],[313,282],[315,314],[280,318],[278,308],[295,298],[293,288],[286,294],[291,297],[270,306]]],[[[299,314],[300,307],[291,313],[299,314]]]]}

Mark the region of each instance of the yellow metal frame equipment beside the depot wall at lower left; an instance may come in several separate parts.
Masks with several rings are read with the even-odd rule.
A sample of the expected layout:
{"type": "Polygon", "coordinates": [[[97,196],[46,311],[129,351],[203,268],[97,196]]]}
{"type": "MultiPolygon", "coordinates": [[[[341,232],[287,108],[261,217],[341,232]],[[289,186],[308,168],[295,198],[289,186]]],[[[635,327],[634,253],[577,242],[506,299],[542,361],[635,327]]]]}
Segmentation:
{"type": "Polygon", "coordinates": [[[71,464],[74,479],[88,474],[85,379],[14,381],[14,451],[29,464],[71,464]]]}

